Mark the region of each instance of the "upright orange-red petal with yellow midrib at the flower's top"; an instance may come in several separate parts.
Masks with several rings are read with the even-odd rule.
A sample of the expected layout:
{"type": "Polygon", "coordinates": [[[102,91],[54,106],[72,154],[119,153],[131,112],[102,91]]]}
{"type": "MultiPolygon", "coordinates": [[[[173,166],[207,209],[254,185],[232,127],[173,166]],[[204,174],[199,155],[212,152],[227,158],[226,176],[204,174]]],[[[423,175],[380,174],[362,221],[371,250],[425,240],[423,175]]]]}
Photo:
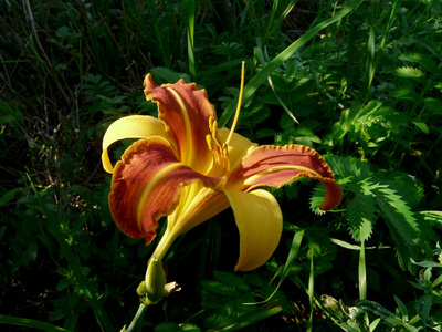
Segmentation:
{"type": "Polygon", "coordinates": [[[206,174],[212,154],[206,141],[211,134],[209,118],[217,120],[204,90],[180,80],[175,84],[158,86],[150,74],[144,82],[146,98],[157,103],[158,118],[166,125],[171,142],[177,146],[178,158],[196,172],[206,174]]]}

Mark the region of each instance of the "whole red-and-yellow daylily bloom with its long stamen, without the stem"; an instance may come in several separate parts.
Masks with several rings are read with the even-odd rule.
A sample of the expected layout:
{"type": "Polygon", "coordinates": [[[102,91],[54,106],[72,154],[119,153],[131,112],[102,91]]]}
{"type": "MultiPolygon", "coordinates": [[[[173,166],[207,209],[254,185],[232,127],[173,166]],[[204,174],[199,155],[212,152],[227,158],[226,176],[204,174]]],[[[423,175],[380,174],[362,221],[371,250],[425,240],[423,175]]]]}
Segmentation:
{"type": "MultiPolygon", "coordinates": [[[[301,177],[317,179],[326,188],[319,208],[339,205],[341,188],[313,148],[257,146],[234,133],[235,124],[231,131],[219,129],[206,91],[194,83],[180,80],[158,86],[148,74],[144,85],[147,100],[158,105],[158,118],[133,115],[114,122],[103,139],[102,159],[113,174],[109,206],[124,234],[149,245],[158,220],[168,216],[151,259],[161,261],[178,236],[231,206],[240,234],[235,270],[252,270],[273,255],[283,227],[276,199],[262,187],[281,187],[301,177]],[[139,141],[114,168],[107,148],[124,138],[139,141]]],[[[238,115],[239,108],[235,120],[238,115]]]]}

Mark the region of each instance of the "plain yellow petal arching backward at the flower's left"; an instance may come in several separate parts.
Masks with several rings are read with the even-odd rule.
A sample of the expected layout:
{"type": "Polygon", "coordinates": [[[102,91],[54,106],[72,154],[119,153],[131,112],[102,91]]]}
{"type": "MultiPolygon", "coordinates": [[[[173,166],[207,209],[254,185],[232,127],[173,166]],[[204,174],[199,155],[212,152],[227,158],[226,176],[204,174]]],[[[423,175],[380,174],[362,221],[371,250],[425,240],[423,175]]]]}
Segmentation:
{"type": "Polygon", "coordinates": [[[152,116],[130,115],[112,123],[103,137],[102,162],[104,169],[108,173],[114,172],[107,154],[110,144],[125,138],[147,138],[150,136],[167,138],[165,125],[152,116]]]}

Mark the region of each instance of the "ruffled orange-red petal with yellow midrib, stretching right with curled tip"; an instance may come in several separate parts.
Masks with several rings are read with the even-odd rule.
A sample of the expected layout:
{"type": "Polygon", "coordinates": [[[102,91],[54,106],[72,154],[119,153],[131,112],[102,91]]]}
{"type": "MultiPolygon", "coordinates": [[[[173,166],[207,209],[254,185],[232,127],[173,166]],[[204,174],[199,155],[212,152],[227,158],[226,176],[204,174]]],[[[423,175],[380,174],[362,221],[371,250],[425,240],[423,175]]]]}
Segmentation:
{"type": "Polygon", "coordinates": [[[304,145],[263,145],[249,151],[241,164],[231,170],[225,188],[251,190],[283,184],[299,177],[317,179],[326,187],[326,197],[319,206],[323,210],[334,209],[340,204],[343,189],[320,155],[304,145]]]}

